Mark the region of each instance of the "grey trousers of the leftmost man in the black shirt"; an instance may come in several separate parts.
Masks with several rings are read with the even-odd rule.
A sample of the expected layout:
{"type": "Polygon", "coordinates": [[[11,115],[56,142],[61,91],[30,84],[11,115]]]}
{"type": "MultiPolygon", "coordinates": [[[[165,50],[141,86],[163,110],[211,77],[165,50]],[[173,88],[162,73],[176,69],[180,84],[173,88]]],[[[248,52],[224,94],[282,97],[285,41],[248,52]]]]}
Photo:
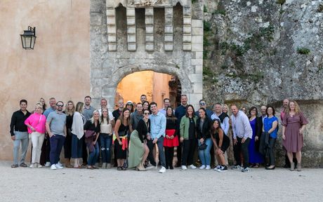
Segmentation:
{"type": "Polygon", "coordinates": [[[25,163],[29,137],[27,132],[14,131],[15,140],[13,141],[13,163],[18,164],[19,147],[21,142],[21,158],[19,163],[25,163]]]}

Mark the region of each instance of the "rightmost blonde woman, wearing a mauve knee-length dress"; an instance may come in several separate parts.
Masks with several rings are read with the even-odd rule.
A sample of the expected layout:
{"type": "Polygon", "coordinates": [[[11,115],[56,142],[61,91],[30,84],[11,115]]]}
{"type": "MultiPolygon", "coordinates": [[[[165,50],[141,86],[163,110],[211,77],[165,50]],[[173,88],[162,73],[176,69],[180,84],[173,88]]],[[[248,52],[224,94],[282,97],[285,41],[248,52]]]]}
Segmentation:
{"type": "Polygon", "coordinates": [[[282,139],[289,162],[291,162],[291,171],[295,169],[293,153],[296,153],[297,171],[301,171],[301,149],[303,147],[303,133],[306,124],[308,124],[308,120],[303,115],[303,112],[301,112],[297,102],[290,100],[289,107],[282,121],[282,139]]]}

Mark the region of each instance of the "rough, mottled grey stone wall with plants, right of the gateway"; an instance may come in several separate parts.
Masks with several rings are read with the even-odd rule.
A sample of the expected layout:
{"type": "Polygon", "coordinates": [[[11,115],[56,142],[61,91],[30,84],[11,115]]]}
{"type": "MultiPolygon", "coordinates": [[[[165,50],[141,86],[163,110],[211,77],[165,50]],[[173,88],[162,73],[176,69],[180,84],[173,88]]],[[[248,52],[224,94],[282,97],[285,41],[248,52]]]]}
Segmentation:
{"type": "MultiPolygon", "coordinates": [[[[204,97],[277,111],[284,98],[299,100],[310,121],[305,166],[323,164],[322,8],[320,0],[205,0],[204,6],[204,97]]],[[[280,144],[279,136],[278,157],[280,144]]]]}

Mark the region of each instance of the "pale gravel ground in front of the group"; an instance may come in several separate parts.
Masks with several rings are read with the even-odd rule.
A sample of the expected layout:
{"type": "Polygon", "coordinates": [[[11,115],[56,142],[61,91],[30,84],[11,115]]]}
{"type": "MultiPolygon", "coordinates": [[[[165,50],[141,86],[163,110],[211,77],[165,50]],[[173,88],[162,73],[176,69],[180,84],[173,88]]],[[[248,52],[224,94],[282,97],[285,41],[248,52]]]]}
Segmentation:
{"type": "Polygon", "coordinates": [[[0,161],[0,201],[323,201],[323,169],[11,168],[0,161]]]}

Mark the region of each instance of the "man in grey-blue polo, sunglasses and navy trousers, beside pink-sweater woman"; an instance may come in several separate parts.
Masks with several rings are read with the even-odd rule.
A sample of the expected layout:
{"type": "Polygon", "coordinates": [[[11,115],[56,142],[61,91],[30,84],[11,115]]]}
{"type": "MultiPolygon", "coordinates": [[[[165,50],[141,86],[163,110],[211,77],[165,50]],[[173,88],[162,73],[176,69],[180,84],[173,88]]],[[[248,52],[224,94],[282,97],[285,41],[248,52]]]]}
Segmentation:
{"type": "Polygon", "coordinates": [[[51,152],[49,159],[51,161],[51,170],[63,168],[58,161],[60,159],[60,152],[65,142],[67,134],[66,130],[66,115],[62,113],[64,103],[58,101],[56,103],[55,112],[51,112],[46,119],[46,131],[49,135],[51,142],[51,152]]]}

